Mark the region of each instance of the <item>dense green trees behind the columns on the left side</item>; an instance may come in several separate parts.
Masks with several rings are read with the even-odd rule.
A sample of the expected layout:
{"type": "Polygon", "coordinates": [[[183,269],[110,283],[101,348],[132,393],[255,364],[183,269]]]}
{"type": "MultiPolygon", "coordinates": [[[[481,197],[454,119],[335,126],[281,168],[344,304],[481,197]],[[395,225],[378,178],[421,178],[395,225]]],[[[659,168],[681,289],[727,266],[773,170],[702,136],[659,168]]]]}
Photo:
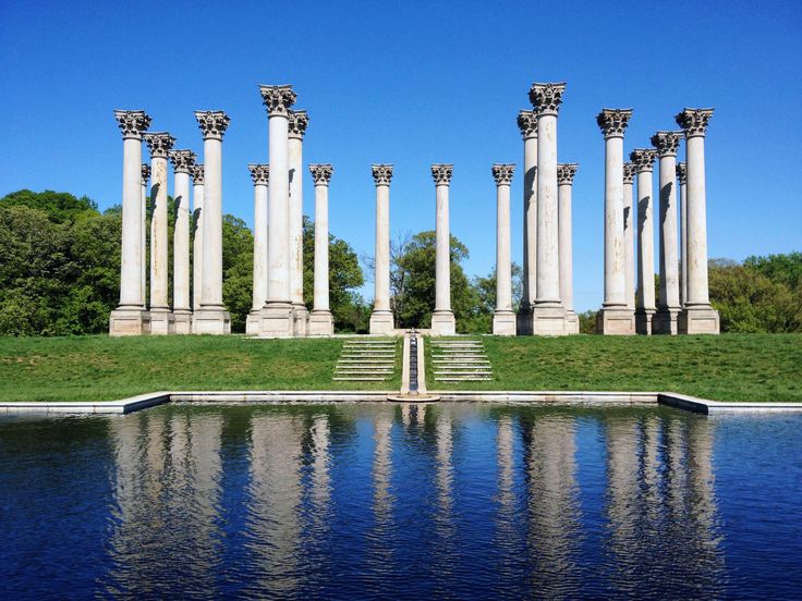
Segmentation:
{"type": "MultiPolygon", "coordinates": [[[[172,198],[168,198],[168,219],[172,257],[172,198]]],[[[86,196],[22,189],[0,198],[0,334],[107,332],[109,312],[120,299],[121,232],[120,207],[101,213],[86,196]]],[[[309,307],[313,238],[314,224],[304,219],[309,307]]],[[[339,330],[364,329],[369,309],[355,293],[363,283],[357,256],[344,241],[332,235],[329,240],[335,324],[339,330]]],[[[232,329],[244,331],[252,300],[253,234],[243,220],[223,217],[222,246],[223,302],[231,311],[232,329]]],[[[145,260],[149,265],[149,255],[145,260]]],[[[172,259],[168,266],[171,281],[172,259]]]]}

